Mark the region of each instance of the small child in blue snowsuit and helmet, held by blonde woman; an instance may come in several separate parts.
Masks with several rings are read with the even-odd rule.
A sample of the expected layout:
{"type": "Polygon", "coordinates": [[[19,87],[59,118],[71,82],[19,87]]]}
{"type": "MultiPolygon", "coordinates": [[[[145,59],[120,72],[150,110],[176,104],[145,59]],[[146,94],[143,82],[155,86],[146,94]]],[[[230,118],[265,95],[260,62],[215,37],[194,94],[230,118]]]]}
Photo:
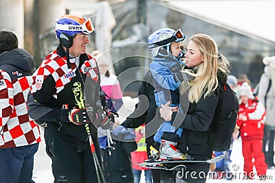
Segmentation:
{"type": "MultiPolygon", "coordinates": [[[[175,31],[170,28],[158,29],[148,37],[148,47],[154,56],[154,60],[150,64],[150,71],[154,78],[154,94],[158,107],[167,102],[170,102],[170,106],[179,106],[179,85],[186,77],[181,72],[184,62],[181,62],[180,58],[184,56],[184,52],[180,49],[180,42],[185,37],[181,29],[175,31]]],[[[187,81],[188,78],[186,77],[185,80],[187,81]]],[[[172,125],[170,121],[162,123],[154,136],[156,143],[151,148],[152,156],[150,158],[185,159],[186,155],[175,148],[181,132],[182,129],[172,125]]]]}

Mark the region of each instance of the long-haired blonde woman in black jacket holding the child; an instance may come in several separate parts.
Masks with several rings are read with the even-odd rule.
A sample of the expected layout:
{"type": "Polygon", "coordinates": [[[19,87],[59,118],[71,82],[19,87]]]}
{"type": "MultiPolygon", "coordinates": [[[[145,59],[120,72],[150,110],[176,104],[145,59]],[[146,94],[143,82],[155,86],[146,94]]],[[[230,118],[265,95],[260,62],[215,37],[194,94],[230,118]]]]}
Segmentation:
{"type": "MultiPolygon", "coordinates": [[[[162,105],[160,114],[183,128],[177,149],[197,160],[206,160],[212,155],[210,130],[219,101],[217,87],[226,82],[228,60],[218,53],[216,42],[206,34],[195,34],[190,38],[185,57],[188,69],[184,71],[194,77],[189,82],[188,93],[186,87],[181,90],[181,97],[187,95],[190,103],[181,102],[180,106],[184,108],[189,105],[188,112],[184,114],[176,108],[162,105]]],[[[186,167],[181,176],[184,182],[206,182],[210,164],[186,164],[186,167]]]]}

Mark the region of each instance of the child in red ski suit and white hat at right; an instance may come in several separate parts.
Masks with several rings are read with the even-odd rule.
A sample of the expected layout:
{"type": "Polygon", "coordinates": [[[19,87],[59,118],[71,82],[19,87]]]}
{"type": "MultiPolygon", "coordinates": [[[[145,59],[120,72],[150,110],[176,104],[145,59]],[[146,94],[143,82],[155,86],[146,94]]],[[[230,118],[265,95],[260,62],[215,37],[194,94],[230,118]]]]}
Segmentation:
{"type": "Polygon", "coordinates": [[[267,164],[265,164],[263,151],[259,147],[263,146],[265,107],[261,102],[254,100],[251,87],[247,82],[239,87],[239,99],[241,104],[236,125],[241,134],[245,178],[253,178],[253,166],[259,178],[263,178],[267,171],[267,164]]]}

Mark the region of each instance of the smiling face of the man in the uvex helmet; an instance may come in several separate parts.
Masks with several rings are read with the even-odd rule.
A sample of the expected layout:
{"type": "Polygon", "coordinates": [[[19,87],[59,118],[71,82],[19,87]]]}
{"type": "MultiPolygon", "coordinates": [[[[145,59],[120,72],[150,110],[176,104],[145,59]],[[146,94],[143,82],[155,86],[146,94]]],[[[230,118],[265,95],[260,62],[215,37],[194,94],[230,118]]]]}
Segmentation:
{"type": "Polygon", "coordinates": [[[76,34],[73,38],[73,45],[69,48],[69,54],[72,56],[79,56],[80,54],[86,53],[89,42],[88,35],[83,33],[76,34]]]}

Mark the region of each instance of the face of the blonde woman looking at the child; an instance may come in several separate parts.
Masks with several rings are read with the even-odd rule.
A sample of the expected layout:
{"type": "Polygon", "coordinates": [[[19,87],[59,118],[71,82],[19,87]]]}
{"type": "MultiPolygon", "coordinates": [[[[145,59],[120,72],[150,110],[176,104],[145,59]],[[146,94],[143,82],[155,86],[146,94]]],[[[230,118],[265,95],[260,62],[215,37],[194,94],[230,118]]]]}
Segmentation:
{"type": "Polygon", "coordinates": [[[188,67],[198,66],[203,62],[203,54],[192,40],[188,42],[185,58],[188,67]]]}

